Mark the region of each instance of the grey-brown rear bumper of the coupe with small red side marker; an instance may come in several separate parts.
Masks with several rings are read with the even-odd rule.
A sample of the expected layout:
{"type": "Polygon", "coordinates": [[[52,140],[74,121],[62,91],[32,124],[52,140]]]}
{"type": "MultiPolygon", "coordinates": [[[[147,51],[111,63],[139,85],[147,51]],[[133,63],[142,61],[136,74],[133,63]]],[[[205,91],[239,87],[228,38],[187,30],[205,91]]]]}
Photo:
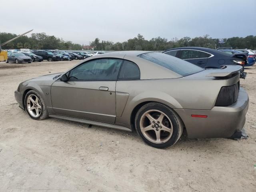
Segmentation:
{"type": "Polygon", "coordinates": [[[240,88],[236,103],[227,107],[213,107],[211,110],[175,109],[182,118],[189,138],[230,138],[242,130],[246,112],[249,107],[249,97],[240,88]],[[191,117],[207,115],[207,118],[191,117]]]}

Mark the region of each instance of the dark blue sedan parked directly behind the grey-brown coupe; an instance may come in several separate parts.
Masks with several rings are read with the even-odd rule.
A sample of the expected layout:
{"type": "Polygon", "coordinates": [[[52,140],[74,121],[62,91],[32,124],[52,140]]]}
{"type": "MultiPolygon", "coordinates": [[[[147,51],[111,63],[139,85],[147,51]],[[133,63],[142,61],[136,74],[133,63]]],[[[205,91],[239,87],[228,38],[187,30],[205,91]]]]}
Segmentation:
{"type": "MultiPolygon", "coordinates": [[[[227,55],[218,50],[204,47],[180,47],[172,48],[163,53],[181,58],[202,68],[220,68],[223,65],[247,64],[247,56],[244,53],[227,55]]],[[[245,78],[244,68],[241,71],[241,78],[245,78]]]]}

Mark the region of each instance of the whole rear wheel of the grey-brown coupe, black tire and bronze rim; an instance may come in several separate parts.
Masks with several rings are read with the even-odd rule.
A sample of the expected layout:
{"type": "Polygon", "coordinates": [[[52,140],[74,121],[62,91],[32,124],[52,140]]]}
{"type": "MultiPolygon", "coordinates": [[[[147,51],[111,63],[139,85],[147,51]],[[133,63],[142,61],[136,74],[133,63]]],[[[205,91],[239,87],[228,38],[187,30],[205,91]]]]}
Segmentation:
{"type": "Polygon", "coordinates": [[[182,135],[183,127],[181,118],[172,108],[157,102],[145,104],[135,116],[135,128],[138,135],[146,144],[155,148],[167,148],[174,145],[182,135]],[[151,120],[147,117],[148,114],[150,118],[153,117],[151,120]],[[160,117],[163,117],[162,120],[160,117]],[[143,131],[144,128],[146,131],[143,131]]]}

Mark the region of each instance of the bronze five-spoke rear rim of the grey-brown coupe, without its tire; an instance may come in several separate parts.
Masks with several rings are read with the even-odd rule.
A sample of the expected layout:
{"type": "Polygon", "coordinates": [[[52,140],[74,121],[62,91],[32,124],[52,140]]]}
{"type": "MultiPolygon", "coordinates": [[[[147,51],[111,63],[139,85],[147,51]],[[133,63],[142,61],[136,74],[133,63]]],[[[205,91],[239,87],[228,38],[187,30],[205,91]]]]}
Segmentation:
{"type": "Polygon", "coordinates": [[[159,110],[148,110],[142,114],[140,130],[150,142],[156,144],[167,142],[173,132],[170,118],[159,110]]]}

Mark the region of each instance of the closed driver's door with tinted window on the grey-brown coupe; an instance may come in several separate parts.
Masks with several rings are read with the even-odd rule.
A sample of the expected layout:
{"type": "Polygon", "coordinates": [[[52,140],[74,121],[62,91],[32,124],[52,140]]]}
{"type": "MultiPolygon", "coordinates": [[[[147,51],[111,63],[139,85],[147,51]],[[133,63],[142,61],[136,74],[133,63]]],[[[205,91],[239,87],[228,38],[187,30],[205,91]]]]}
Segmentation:
{"type": "Polygon", "coordinates": [[[57,80],[51,87],[56,114],[114,123],[116,80],[122,59],[89,60],[67,73],[68,81],[57,80]]]}

